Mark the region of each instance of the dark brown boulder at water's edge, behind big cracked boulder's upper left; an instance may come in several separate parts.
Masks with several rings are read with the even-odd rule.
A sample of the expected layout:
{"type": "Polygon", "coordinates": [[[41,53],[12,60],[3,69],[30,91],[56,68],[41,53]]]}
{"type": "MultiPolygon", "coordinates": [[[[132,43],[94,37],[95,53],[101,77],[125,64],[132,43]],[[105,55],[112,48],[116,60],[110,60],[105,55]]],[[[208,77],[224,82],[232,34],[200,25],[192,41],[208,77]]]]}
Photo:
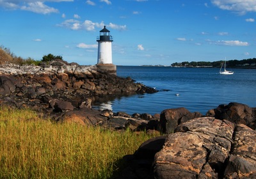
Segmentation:
{"type": "Polygon", "coordinates": [[[200,117],[202,117],[202,114],[190,113],[188,109],[184,107],[165,109],[160,114],[161,130],[164,133],[170,134],[180,123],[200,117]]]}

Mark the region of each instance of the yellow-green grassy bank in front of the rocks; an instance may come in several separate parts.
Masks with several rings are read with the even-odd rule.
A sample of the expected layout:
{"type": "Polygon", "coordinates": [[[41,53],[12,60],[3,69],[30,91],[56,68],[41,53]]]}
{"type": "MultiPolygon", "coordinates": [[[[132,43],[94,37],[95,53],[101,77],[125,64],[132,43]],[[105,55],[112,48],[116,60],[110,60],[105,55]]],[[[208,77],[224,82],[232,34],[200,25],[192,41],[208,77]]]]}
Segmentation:
{"type": "Polygon", "coordinates": [[[152,136],[40,120],[0,109],[0,178],[109,178],[152,136]]]}

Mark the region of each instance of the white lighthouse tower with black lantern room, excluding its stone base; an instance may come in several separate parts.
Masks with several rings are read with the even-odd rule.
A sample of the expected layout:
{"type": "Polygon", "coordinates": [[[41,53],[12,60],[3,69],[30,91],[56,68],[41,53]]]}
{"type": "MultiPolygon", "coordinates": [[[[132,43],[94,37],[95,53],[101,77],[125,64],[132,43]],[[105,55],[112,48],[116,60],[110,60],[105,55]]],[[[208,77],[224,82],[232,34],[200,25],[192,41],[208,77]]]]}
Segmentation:
{"type": "Polygon", "coordinates": [[[98,42],[98,62],[100,64],[112,64],[112,44],[113,36],[106,26],[100,31],[100,36],[97,37],[98,42]]]}

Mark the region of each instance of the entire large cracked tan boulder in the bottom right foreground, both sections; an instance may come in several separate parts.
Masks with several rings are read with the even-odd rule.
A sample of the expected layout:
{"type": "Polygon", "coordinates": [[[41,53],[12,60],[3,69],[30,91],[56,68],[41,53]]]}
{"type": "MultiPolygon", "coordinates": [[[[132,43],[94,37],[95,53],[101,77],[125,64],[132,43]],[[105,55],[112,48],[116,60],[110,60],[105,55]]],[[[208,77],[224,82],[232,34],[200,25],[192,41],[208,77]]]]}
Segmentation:
{"type": "Polygon", "coordinates": [[[256,132],[212,117],[182,123],[156,153],[155,178],[255,178],[256,132]]]}

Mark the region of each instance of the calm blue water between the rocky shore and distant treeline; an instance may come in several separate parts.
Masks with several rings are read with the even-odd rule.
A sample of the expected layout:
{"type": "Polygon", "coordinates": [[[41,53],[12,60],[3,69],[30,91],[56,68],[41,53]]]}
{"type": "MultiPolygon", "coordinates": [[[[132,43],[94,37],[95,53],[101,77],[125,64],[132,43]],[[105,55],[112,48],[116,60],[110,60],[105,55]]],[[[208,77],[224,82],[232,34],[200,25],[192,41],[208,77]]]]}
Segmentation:
{"type": "Polygon", "coordinates": [[[170,91],[119,97],[93,107],[128,114],[156,114],[177,107],[205,114],[230,102],[256,107],[256,70],[234,69],[234,72],[234,75],[220,75],[218,68],[117,66],[120,77],[131,77],[146,86],[170,91]]]}

